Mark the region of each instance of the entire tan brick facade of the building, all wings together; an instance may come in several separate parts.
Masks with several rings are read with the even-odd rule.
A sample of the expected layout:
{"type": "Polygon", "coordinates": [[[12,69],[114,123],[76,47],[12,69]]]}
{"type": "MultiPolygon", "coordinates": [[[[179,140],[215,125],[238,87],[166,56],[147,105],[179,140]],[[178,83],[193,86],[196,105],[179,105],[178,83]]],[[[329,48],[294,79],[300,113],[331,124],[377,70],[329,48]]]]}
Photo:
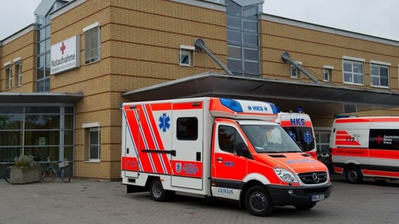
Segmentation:
{"type": "MultiPolygon", "coordinates": [[[[180,45],[202,38],[220,58],[227,57],[226,15],[221,10],[175,1],[88,0],[51,20],[51,44],[80,37],[78,69],[51,76],[51,92],[82,92],[75,104],[74,175],[93,179],[120,178],[122,93],[204,72],[224,73],[204,52],[195,51],[194,66],[179,66],[180,45]],[[100,61],[84,63],[84,27],[100,25],[100,61]],[[85,129],[100,123],[100,162],[85,161],[85,129]]],[[[0,91],[34,92],[37,31],[0,45],[0,91]],[[22,86],[5,90],[5,62],[22,58],[22,86]]],[[[370,87],[370,60],[391,63],[392,92],[399,92],[399,47],[323,31],[261,20],[261,77],[293,80],[281,53],[301,61],[322,80],[322,68],[334,66],[330,85],[342,83],[342,57],[365,59],[365,85],[370,87]]],[[[310,82],[302,76],[298,82],[310,82]]],[[[346,84],[344,86],[347,86],[346,84]]],[[[277,103],[277,102],[276,102],[277,103]]],[[[359,116],[399,116],[399,109],[356,113],[359,116]]],[[[310,115],[311,116],[311,115],[310,115]]],[[[330,127],[331,117],[312,117],[316,127],[330,127]]]]}

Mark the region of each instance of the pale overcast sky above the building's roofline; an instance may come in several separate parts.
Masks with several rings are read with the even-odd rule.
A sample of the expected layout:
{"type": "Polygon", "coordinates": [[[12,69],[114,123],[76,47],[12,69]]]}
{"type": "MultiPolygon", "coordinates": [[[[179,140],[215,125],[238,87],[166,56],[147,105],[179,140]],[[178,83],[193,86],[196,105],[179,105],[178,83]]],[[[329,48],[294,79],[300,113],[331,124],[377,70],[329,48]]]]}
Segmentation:
{"type": "MultiPolygon", "coordinates": [[[[40,2],[0,0],[0,40],[32,24],[40,2]]],[[[398,0],[265,0],[263,12],[399,41],[398,6],[398,0]]]]}

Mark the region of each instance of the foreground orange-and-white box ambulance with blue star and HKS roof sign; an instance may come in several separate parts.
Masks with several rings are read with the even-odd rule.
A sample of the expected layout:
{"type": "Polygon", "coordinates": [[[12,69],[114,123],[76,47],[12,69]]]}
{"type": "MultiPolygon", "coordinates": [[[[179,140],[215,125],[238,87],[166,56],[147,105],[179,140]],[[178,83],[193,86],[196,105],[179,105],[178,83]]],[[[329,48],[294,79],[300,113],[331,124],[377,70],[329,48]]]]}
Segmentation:
{"type": "Polygon", "coordinates": [[[150,191],[236,200],[255,216],[311,209],[332,191],[322,162],[275,123],[274,104],[223,98],[122,104],[122,181],[150,191]]]}

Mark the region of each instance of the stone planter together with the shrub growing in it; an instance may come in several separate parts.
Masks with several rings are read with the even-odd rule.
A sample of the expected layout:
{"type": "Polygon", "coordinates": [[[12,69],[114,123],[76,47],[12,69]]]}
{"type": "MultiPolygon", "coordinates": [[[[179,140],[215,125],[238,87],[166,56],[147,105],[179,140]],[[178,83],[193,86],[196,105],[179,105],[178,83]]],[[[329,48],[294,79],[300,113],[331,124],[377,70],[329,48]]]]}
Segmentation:
{"type": "Polygon", "coordinates": [[[12,184],[34,183],[41,181],[41,166],[34,162],[31,155],[20,155],[14,158],[15,166],[11,167],[12,184]]]}

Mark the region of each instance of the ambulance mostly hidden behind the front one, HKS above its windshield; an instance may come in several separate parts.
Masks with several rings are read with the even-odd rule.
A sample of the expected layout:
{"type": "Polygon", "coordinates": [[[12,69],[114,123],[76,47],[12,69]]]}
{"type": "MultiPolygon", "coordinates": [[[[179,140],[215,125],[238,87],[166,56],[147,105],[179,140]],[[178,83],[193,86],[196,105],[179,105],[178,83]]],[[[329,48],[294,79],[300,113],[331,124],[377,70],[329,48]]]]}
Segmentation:
{"type": "Polygon", "coordinates": [[[312,120],[306,113],[279,112],[275,120],[289,134],[302,151],[318,158],[312,120]]]}

